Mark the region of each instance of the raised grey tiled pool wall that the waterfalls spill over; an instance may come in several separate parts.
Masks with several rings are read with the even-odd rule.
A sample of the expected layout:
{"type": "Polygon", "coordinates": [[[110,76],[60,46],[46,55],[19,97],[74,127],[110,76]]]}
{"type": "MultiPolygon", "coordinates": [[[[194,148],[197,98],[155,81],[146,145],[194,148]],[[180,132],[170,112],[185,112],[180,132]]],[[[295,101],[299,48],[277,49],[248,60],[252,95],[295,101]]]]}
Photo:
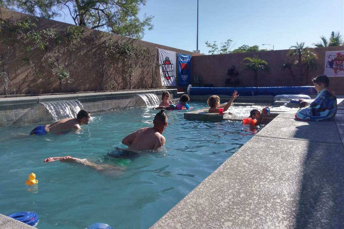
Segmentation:
{"type": "Polygon", "coordinates": [[[173,98],[177,94],[172,90],[140,90],[130,92],[99,92],[67,95],[43,95],[35,97],[17,97],[0,99],[0,128],[12,124],[33,124],[53,121],[52,115],[40,102],[59,100],[79,100],[86,111],[91,113],[122,110],[128,107],[146,106],[139,94],[156,94],[169,91],[173,98]]]}

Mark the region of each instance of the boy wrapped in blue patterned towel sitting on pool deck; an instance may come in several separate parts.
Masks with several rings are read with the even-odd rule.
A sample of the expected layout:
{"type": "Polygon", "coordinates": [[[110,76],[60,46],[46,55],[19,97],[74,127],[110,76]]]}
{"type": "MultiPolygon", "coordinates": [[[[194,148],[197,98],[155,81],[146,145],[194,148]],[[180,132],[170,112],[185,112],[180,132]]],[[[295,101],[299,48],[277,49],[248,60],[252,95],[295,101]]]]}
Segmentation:
{"type": "Polygon", "coordinates": [[[329,78],[321,75],[312,81],[319,94],[311,104],[300,108],[295,114],[295,118],[307,121],[333,120],[337,113],[337,98],[329,88],[329,78]]]}

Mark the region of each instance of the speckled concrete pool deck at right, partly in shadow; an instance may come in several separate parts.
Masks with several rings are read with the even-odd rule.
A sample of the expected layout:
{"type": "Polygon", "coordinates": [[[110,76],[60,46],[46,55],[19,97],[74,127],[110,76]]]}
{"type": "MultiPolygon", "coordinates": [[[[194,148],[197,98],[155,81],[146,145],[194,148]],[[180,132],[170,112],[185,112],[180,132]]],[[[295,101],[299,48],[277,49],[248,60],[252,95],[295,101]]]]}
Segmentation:
{"type": "Polygon", "coordinates": [[[278,115],[151,229],[344,228],[338,97],[332,122],[278,115]]]}

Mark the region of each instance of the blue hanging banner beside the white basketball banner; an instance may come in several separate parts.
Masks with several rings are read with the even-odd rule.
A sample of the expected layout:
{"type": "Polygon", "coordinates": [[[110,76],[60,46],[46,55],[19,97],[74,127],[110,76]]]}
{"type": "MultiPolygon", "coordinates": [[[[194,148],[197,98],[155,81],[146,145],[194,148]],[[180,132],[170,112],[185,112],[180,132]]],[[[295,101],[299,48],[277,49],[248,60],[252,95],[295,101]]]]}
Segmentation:
{"type": "Polygon", "coordinates": [[[178,86],[191,84],[191,56],[179,54],[178,59],[178,86]]]}

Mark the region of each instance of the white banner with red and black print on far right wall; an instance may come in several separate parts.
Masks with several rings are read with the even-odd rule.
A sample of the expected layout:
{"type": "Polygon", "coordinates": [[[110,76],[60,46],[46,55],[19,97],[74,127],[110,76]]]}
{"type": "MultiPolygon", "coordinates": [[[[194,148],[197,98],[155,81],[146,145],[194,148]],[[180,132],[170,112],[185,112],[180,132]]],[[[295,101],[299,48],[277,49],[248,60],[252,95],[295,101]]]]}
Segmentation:
{"type": "Polygon", "coordinates": [[[344,76],[344,51],[329,51],[325,54],[325,71],[328,77],[344,76]]]}

